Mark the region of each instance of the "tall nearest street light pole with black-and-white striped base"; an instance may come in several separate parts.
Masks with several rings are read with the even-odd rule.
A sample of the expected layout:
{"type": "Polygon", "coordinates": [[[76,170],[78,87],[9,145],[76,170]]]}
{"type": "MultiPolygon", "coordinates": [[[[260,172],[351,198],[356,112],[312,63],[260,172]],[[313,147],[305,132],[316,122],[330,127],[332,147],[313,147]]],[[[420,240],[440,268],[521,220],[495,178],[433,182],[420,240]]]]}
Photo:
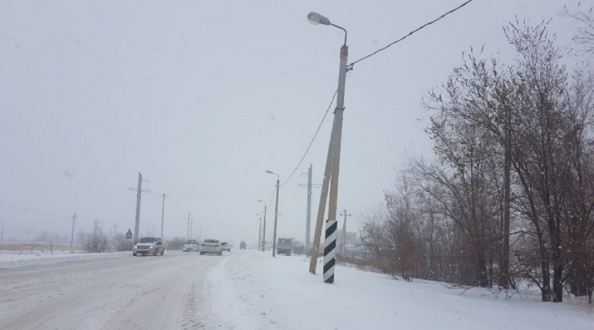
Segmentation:
{"type": "MultiPolygon", "coordinates": [[[[318,218],[314,235],[312,248],[312,259],[310,260],[310,272],[315,273],[317,257],[319,254],[319,240],[321,237],[321,227],[324,224],[324,208],[326,207],[326,189],[329,181],[329,202],[328,202],[328,222],[326,223],[326,240],[328,247],[335,246],[336,240],[336,209],[338,204],[338,173],[340,167],[340,142],[342,138],[342,114],[345,111],[345,84],[347,80],[347,59],[349,56],[349,47],[347,47],[347,30],[338,25],[332,24],[327,17],[318,13],[311,12],[307,15],[307,20],[314,24],[330,25],[345,32],[345,43],[340,47],[340,66],[338,68],[338,91],[336,97],[336,109],[334,110],[334,122],[328,147],[328,159],[326,160],[326,171],[324,172],[324,182],[322,183],[322,193],[320,195],[320,204],[318,218]],[[328,164],[330,163],[330,164],[328,164]],[[329,173],[328,173],[328,170],[329,173]],[[334,243],[332,243],[334,241],[334,243]]],[[[324,253],[324,282],[334,283],[334,262],[335,249],[331,248],[328,253],[324,253]]]]}

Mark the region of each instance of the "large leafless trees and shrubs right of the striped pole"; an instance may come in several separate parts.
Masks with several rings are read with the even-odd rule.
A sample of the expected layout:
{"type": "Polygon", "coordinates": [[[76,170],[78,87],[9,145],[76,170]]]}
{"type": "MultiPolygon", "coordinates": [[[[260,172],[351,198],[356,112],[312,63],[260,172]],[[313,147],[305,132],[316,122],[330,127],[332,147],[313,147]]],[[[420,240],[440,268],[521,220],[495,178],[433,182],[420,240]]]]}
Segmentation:
{"type": "MultiPolygon", "coordinates": [[[[592,31],[579,30],[582,50],[594,49],[592,31]]],[[[566,289],[591,299],[594,75],[586,64],[570,73],[547,22],[505,35],[513,63],[471,51],[429,94],[435,158],[407,161],[363,241],[377,268],[406,279],[528,281],[543,301],[566,289]]]]}

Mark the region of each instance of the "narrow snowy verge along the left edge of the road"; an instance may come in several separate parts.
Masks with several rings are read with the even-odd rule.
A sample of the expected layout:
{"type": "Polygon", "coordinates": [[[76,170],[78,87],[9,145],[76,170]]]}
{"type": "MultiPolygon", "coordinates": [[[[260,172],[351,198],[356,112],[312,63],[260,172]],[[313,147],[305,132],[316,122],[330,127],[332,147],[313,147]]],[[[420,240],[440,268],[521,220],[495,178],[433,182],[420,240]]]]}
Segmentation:
{"type": "Polygon", "coordinates": [[[130,255],[129,252],[85,253],[75,251],[39,251],[35,253],[14,253],[0,250],[0,269],[11,269],[23,266],[38,266],[55,264],[57,262],[70,262],[75,260],[90,260],[107,257],[130,255]]]}

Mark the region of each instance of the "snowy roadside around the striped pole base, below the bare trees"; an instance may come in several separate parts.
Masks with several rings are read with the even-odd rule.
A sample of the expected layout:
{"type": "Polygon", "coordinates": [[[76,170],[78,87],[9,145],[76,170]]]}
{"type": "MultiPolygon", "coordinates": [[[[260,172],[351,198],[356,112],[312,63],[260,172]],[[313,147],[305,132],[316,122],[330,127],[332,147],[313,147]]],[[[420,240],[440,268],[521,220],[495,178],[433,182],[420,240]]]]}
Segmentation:
{"type": "MultiPolygon", "coordinates": [[[[303,256],[240,250],[217,265],[205,298],[217,329],[590,329],[594,315],[565,304],[494,299],[338,267],[334,285],[303,256]]],[[[320,271],[321,267],[318,267],[320,271]]],[[[524,297],[526,298],[526,297],[524,297]]]]}

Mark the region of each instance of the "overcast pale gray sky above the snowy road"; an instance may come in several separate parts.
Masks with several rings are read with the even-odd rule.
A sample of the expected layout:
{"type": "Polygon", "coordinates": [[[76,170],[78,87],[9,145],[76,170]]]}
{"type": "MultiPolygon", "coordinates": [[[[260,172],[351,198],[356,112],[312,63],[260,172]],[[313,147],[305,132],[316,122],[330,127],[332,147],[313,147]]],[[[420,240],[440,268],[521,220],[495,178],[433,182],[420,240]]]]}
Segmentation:
{"type": "MultiPolygon", "coordinates": [[[[253,242],[259,199],[287,179],[337,87],[342,32],[307,23],[311,10],[349,31],[354,61],[463,0],[0,2],[0,220],[5,239],[46,230],[133,229],[253,242]]],[[[475,0],[347,77],[339,209],[382,201],[407,154],[430,155],[420,105],[462,52],[486,46],[509,60],[502,26],[553,18],[569,45],[573,0],[475,0]]],[[[594,1],[581,1],[592,6],[594,1]],[[588,3],[591,2],[591,3],[588,3]]],[[[349,61],[349,62],[350,62],[349,61]]],[[[306,183],[321,183],[332,118],[280,190],[278,232],[305,237],[306,183]]],[[[314,190],[312,214],[319,189],[314,190]]],[[[268,213],[272,235],[273,210],[268,213]]],[[[78,230],[77,230],[78,231],[78,230]]]]}

